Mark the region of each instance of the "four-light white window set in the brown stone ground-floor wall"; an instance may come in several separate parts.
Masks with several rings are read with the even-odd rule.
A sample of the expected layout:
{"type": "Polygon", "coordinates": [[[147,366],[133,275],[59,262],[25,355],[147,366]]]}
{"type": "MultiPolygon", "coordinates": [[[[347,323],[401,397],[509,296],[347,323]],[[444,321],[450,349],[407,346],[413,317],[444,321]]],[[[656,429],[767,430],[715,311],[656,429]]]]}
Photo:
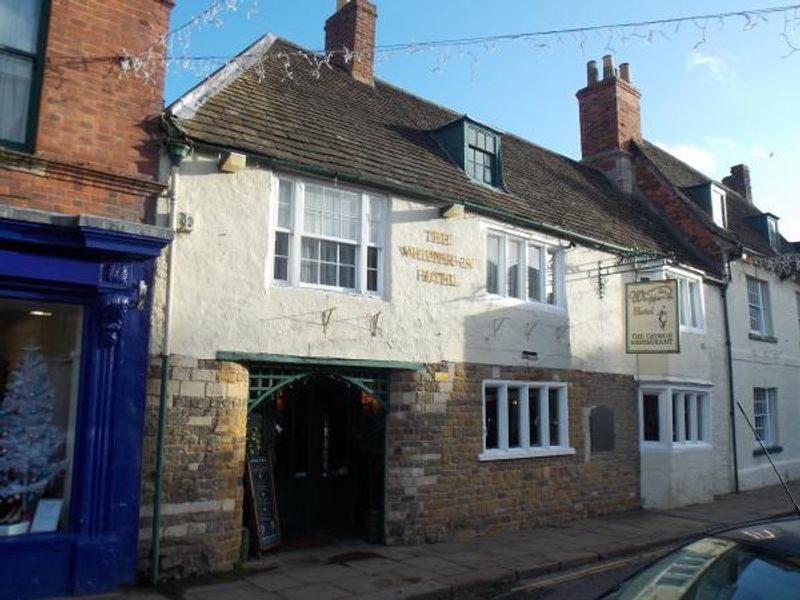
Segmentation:
{"type": "Polygon", "coordinates": [[[564,383],[486,381],[481,460],[573,454],[564,383]]]}

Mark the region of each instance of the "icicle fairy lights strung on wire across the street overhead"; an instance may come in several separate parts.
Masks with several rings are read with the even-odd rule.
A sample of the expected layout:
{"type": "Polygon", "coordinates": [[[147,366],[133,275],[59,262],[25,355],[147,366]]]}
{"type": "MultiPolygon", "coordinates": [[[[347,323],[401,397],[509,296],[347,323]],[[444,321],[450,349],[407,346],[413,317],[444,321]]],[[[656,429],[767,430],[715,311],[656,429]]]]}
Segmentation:
{"type": "MultiPolygon", "coordinates": [[[[192,55],[194,34],[209,27],[222,27],[226,18],[235,12],[244,12],[248,19],[253,18],[258,14],[258,0],[213,0],[204,10],[160,36],[142,51],[134,52],[123,48],[117,56],[61,56],[51,66],[106,60],[118,64],[120,76],[134,76],[155,82],[164,68],[184,71],[202,78],[226,64],[239,68],[260,66],[261,69],[278,64],[283,69],[283,79],[290,80],[301,72],[312,78],[319,78],[323,69],[332,68],[335,57],[341,56],[345,62],[357,57],[351,48],[329,51],[298,49],[280,54],[257,51],[238,56],[192,55]]],[[[519,51],[521,47],[533,54],[552,53],[559,46],[567,45],[577,47],[583,54],[590,44],[602,45],[603,52],[616,54],[618,47],[635,42],[649,45],[673,41],[679,34],[689,30],[691,49],[698,52],[710,39],[722,35],[726,30],[747,32],[769,24],[776,26],[784,48],[782,58],[789,58],[800,52],[800,4],[793,4],[625,23],[377,45],[374,48],[374,58],[376,64],[381,65],[403,56],[427,54],[431,56],[430,69],[434,73],[445,70],[453,62],[466,61],[474,80],[483,57],[512,44],[517,45],[512,51],[519,51]]]]}

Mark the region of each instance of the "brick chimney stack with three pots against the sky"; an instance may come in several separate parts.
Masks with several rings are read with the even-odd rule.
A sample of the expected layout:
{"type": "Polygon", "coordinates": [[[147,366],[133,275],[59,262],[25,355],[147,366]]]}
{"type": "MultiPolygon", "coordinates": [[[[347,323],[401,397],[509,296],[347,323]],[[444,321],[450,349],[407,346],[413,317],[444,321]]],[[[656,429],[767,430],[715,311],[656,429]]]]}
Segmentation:
{"type": "Polygon", "coordinates": [[[617,72],[611,55],[603,57],[602,79],[598,79],[593,60],[586,65],[586,75],[586,87],[576,96],[581,153],[584,162],[592,162],[624,151],[631,140],[642,139],[641,94],[631,84],[630,66],[623,63],[617,72]]]}

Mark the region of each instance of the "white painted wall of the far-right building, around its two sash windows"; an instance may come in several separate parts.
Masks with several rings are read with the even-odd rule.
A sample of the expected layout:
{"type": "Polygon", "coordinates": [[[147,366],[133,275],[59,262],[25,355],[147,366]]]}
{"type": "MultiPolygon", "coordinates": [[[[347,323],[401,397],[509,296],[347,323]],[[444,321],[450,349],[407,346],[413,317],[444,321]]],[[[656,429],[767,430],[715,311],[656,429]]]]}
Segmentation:
{"type": "MultiPolygon", "coordinates": [[[[800,287],[772,271],[737,261],[731,268],[729,303],[735,398],[753,419],[753,388],[777,388],[777,443],[773,460],[782,474],[800,477],[800,324],[795,294],[800,287]],[[752,340],[746,276],[769,285],[769,306],[775,343],[752,340]]],[[[766,457],[754,457],[756,442],[741,413],[736,412],[739,482],[742,489],[775,485],[778,479],[766,457]]]]}

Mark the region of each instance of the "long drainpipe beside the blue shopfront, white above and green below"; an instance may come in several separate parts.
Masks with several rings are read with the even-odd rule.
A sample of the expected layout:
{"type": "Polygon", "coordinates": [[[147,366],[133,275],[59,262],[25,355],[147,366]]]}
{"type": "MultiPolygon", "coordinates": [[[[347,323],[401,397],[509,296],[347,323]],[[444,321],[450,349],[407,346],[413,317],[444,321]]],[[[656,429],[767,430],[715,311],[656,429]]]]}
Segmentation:
{"type": "Polygon", "coordinates": [[[158,584],[159,554],[161,551],[161,484],[164,476],[164,432],[167,425],[172,286],[175,280],[175,244],[178,239],[178,175],[181,161],[189,154],[189,146],[183,141],[170,141],[167,145],[167,151],[172,163],[169,176],[169,228],[173,232],[173,238],[169,246],[169,254],[167,254],[164,336],[161,342],[161,387],[158,396],[158,429],[156,431],[156,472],[153,489],[153,526],[150,535],[150,583],[154,586],[158,584]]]}

